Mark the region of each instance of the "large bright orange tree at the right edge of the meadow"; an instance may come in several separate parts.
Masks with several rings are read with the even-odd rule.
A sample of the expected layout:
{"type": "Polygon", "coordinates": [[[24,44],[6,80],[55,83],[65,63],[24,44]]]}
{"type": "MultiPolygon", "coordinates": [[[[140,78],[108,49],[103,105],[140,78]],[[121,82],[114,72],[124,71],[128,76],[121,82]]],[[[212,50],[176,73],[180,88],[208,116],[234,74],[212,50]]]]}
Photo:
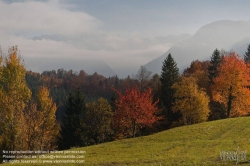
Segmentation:
{"type": "Polygon", "coordinates": [[[211,86],[213,100],[222,103],[227,109],[227,117],[249,113],[250,82],[249,68],[236,53],[224,56],[218,68],[218,77],[211,86]]]}

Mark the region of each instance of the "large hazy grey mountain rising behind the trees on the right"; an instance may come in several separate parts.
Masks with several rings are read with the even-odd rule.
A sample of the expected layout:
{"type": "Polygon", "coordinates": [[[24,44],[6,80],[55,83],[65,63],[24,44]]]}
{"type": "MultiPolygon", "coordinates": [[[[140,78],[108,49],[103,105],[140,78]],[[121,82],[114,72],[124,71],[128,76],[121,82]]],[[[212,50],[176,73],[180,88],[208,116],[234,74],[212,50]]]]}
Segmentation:
{"type": "Polygon", "coordinates": [[[244,42],[247,42],[246,39],[250,37],[249,29],[250,21],[212,22],[201,27],[192,37],[175,44],[162,56],[150,61],[144,67],[153,73],[160,74],[162,62],[171,53],[182,72],[193,60],[209,60],[216,48],[229,51],[235,48],[241,53],[242,49],[247,48],[244,42]],[[244,46],[239,46],[241,44],[244,46]]]}

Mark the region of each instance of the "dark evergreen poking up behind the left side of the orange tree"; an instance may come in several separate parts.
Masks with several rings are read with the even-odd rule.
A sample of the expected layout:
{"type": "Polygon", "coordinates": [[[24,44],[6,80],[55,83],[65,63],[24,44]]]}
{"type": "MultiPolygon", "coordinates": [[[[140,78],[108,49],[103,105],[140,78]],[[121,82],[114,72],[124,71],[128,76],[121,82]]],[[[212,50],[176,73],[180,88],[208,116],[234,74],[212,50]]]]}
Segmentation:
{"type": "Polygon", "coordinates": [[[218,76],[218,70],[222,57],[220,51],[216,48],[211,56],[210,65],[208,66],[209,84],[214,84],[213,79],[218,76]]]}

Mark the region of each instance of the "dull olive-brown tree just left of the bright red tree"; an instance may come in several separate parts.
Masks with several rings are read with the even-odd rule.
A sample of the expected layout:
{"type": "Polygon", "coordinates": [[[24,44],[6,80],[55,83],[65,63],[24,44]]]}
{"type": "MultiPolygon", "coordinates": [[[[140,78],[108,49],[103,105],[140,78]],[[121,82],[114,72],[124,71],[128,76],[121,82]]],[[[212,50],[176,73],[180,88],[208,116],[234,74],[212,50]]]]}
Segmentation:
{"type": "Polygon", "coordinates": [[[111,129],[112,109],[109,102],[99,98],[97,102],[86,104],[86,133],[88,144],[99,144],[112,139],[111,129]]]}

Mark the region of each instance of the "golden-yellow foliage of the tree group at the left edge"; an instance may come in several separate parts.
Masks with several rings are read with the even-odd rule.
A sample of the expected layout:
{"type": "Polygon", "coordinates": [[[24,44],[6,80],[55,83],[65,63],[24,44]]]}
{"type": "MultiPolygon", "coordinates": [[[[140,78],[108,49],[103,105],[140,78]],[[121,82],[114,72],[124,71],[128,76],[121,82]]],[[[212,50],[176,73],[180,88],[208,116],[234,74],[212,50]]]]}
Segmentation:
{"type": "Polygon", "coordinates": [[[25,75],[17,47],[11,47],[0,64],[0,146],[6,150],[52,149],[59,129],[56,106],[45,87],[39,89],[36,102],[29,104],[31,91],[25,75]]]}

